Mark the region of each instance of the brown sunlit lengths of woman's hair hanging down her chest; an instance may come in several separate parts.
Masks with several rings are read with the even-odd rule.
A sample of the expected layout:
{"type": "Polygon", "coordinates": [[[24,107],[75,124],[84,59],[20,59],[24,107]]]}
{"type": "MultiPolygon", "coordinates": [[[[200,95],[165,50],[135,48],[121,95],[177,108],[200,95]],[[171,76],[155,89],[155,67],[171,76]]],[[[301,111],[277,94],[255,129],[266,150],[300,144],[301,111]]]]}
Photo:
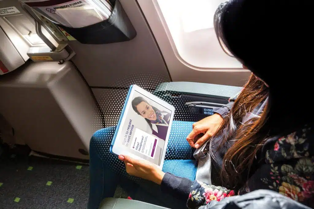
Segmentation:
{"type": "MultiPolygon", "coordinates": [[[[245,181],[247,174],[243,172],[252,165],[258,151],[253,144],[262,144],[263,141],[263,139],[255,139],[255,134],[263,126],[265,115],[252,117],[244,124],[242,119],[261,102],[265,101],[267,97],[267,86],[263,81],[251,75],[243,90],[237,96],[230,113],[214,134],[214,136],[222,135],[220,144],[217,146],[213,144],[214,140],[210,141],[209,154],[216,161],[215,152],[225,146],[226,143],[231,143],[229,140],[235,140],[235,143],[225,154],[220,175],[224,186],[228,188],[237,189],[236,186],[245,181]],[[213,149],[214,147],[218,148],[213,149]]],[[[266,135],[267,133],[263,133],[262,138],[265,138],[266,135]]]]}

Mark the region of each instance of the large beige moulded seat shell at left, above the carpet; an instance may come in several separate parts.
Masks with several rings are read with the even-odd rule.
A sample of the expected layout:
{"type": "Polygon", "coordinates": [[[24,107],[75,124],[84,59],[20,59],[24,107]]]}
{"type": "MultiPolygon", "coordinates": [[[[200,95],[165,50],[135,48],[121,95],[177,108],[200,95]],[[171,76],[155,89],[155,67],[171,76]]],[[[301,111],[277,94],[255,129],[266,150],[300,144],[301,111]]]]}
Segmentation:
{"type": "Polygon", "coordinates": [[[96,99],[75,65],[27,61],[0,77],[0,112],[14,128],[14,143],[40,155],[88,161],[96,99]]]}

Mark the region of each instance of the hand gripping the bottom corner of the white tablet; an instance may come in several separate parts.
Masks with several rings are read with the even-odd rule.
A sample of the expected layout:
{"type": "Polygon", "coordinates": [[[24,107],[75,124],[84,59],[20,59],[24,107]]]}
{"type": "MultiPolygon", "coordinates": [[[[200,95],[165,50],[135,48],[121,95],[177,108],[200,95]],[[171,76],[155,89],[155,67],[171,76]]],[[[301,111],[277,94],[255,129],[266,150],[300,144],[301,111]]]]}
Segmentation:
{"type": "Polygon", "coordinates": [[[119,155],[119,159],[124,162],[128,174],[153,181],[156,184],[161,185],[161,181],[164,178],[165,173],[154,164],[146,160],[132,159],[126,155],[119,155]]]}

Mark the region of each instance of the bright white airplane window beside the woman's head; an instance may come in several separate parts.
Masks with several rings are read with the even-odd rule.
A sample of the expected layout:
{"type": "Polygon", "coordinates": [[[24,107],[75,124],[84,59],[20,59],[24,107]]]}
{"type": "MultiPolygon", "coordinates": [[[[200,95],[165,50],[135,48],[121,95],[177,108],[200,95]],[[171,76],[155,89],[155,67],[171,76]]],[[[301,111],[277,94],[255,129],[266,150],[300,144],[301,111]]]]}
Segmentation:
{"type": "Polygon", "coordinates": [[[242,68],[225,54],[214,31],[214,13],[225,0],[156,0],[181,59],[198,68],[242,68]]]}

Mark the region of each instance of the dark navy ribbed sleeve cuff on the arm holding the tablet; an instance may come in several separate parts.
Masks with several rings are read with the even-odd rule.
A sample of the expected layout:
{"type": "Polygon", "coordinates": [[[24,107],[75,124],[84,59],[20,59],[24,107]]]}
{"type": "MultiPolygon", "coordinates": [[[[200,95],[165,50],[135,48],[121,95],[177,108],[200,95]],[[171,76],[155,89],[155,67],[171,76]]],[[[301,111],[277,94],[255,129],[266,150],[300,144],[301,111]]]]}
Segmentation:
{"type": "Polygon", "coordinates": [[[192,181],[165,173],[161,182],[161,190],[167,191],[180,199],[186,200],[190,194],[192,181]]]}

